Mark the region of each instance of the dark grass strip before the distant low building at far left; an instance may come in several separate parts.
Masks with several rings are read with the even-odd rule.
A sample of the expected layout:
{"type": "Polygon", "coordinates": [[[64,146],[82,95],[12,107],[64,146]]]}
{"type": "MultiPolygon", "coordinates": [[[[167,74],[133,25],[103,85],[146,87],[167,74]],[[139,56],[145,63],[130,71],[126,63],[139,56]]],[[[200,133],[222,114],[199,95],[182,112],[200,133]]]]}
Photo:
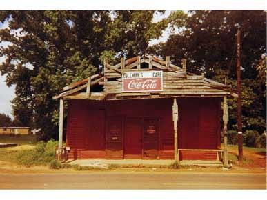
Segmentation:
{"type": "Polygon", "coordinates": [[[0,143],[33,144],[37,143],[34,134],[0,134],[0,143]]]}

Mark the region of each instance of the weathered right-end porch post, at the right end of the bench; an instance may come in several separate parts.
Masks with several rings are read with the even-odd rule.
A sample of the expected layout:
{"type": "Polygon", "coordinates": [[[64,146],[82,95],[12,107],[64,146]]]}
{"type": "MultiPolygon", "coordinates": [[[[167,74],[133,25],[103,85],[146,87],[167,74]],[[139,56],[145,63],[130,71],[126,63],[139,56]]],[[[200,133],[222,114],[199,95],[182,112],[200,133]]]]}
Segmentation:
{"type": "Polygon", "coordinates": [[[224,166],[228,166],[228,150],[227,150],[227,123],[228,123],[228,103],[227,97],[224,96],[224,166]]]}

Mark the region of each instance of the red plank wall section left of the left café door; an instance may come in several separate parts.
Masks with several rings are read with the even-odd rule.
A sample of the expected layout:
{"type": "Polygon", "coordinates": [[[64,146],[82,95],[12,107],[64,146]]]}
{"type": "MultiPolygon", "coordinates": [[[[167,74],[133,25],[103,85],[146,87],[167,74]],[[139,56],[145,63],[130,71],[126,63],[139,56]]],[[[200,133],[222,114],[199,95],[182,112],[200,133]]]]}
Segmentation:
{"type": "Polygon", "coordinates": [[[84,101],[69,101],[67,145],[70,159],[106,157],[105,110],[92,110],[84,101]]]}

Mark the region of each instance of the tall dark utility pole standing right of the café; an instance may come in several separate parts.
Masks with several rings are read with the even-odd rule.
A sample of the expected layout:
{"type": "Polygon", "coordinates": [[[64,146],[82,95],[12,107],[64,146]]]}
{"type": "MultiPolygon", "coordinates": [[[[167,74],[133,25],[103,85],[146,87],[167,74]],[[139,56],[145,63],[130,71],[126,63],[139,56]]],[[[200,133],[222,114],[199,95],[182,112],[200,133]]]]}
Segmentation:
{"type": "Polygon", "coordinates": [[[238,131],[238,159],[243,161],[243,134],[241,121],[241,66],[240,66],[240,29],[237,29],[237,131],[238,131]]]}

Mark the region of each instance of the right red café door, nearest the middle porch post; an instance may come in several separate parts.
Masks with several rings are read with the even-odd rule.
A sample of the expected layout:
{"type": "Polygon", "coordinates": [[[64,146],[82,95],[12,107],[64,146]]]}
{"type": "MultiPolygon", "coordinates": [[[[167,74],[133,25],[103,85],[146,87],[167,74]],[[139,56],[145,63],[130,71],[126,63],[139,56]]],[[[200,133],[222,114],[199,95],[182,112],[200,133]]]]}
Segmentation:
{"type": "Polygon", "coordinates": [[[144,119],[143,158],[157,159],[159,148],[159,121],[155,118],[144,119]]]}

